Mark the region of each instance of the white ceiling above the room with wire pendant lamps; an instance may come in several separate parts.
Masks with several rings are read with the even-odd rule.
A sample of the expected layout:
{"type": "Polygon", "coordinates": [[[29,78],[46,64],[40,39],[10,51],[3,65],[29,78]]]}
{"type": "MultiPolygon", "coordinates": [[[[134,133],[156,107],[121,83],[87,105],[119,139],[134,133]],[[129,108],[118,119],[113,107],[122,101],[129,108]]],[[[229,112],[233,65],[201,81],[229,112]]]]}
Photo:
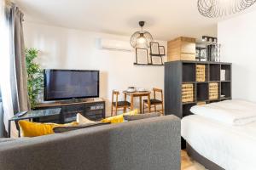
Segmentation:
{"type": "Polygon", "coordinates": [[[197,0],[15,0],[15,3],[25,13],[26,21],[123,36],[131,36],[139,29],[137,22],[145,20],[144,29],[160,40],[217,36],[220,20],[201,16],[197,0]]]}

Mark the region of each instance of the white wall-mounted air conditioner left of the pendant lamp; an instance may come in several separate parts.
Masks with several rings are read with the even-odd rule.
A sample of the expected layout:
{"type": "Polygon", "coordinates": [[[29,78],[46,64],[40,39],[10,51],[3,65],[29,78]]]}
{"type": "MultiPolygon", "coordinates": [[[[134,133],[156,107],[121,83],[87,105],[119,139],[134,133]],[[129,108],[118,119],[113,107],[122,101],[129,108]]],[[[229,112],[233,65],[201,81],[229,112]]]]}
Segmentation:
{"type": "Polygon", "coordinates": [[[118,51],[132,51],[132,47],[129,41],[120,41],[113,39],[100,39],[100,48],[118,50],[118,51]]]}

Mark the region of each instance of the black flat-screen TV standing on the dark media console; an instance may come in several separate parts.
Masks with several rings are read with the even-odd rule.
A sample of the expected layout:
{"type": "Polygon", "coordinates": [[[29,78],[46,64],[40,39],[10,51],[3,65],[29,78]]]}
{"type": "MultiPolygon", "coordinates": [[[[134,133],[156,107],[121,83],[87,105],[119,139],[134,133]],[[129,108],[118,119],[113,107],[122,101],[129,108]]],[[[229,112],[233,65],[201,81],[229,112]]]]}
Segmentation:
{"type": "Polygon", "coordinates": [[[44,100],[99,97],[99,71],[44,70],[44,100]]]}

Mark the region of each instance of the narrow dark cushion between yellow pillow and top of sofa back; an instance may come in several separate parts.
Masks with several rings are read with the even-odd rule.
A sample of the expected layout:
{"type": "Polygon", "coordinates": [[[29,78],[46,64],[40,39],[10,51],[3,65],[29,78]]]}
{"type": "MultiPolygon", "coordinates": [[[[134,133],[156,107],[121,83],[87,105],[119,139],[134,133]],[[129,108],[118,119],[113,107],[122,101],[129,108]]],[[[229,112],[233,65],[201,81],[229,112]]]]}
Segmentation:
{"type": "Polygon", "coordinates": [[[78,130],[82,128],[88,128],[88,127],[98,127],[102,125],[110,124],[110,122],[94,122],[94,123],[86,123],[79,126],[72,126],[72,127],[54,127],[53,131],[55,133],[66,133],[73,130],[78,130]]]}

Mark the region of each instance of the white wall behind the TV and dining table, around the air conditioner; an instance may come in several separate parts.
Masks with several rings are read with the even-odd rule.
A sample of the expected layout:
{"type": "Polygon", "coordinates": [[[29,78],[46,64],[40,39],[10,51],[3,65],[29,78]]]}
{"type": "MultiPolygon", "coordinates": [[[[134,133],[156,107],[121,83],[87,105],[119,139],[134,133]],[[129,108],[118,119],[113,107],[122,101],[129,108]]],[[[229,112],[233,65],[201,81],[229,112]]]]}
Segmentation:
{"type": "MultiPolygon", "coordinates": [[[[108,99],[108,113],[113,89],[164,88],[163,66],[133,65],[135,52],[102,50],[97,44],[102,37],[124,41],[129,41],[130,37],[27,22],[24,34],[26,47],[40,50],[38,63],[43,68],[100,70],[100,96],[108,99]]],[[[165,41],[160,44],[166,46],[165,41]]]]}

